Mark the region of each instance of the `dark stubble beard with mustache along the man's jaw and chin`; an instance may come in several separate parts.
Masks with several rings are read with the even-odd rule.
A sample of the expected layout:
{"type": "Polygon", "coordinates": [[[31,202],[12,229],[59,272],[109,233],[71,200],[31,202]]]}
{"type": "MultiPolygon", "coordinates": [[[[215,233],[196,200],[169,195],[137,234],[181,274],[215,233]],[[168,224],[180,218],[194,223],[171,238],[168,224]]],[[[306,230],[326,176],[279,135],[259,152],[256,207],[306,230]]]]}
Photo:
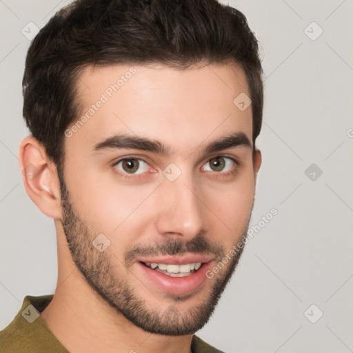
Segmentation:
{"type": "MultiPolygon", "coordinates": [[[[163,301],[159,299],[161,305],[157,305],[156,308],[152,309],[146,305],[143,297],[139,297],[127,279],[122,279],[121,276],[119,278],[119,270],[110,261],[110,256],[114,256],[114,254],[109,255],[108,251],[99,252],[94,248],[92,240],[97,234],[90,231],[88,225],[80,219],[74,205],[69,201],[69,192],[63,178],[59,177],[59,180],[61,184],[63,230],[68,242],[68,248],[77,269],[90,287],[114,310],[119,312],[119,314],[123,314],[126,319],[146,332],[180,336],[194,334],[194,332],[200,330],[212,316],[221,294],[236,270],[243,248],[236,252],[228,262],[228,265],[224,266],[217,276],[214,276],[214,283],[210,286],[210,293],[201,303],[192,307],[189,305],[188,310],[179,310],[178,306],[180,303],[188,301],[190,296],[174,296],[170,294],[168,295],[168,301],[174,303],[168,304],[166,309],[159,311],[159,307],[165,307],[163,301]]],[[[248,231],[250,215],[249,222],[242,233],[243,239],[248,231]]],[[[165,239],[163,243],[158,243],[150,248],[151,252],[170,255],[184,252],[216,254],[216,263],[219,263],[225,254],[223,247],[219,243],[210,243],[203,237],[195,237],[188,243],[165,239]]],[[[136,250],[134,248],[134,253],[136,253],[136,250]]],[[[145,250],[141,248],[141,252],[145,250]]],[[[120,271],[125,270],[120,261],[114,262],[120,264],[120,271]]],[[[157,297],[157,295],[155,296],[157,297]]]]}

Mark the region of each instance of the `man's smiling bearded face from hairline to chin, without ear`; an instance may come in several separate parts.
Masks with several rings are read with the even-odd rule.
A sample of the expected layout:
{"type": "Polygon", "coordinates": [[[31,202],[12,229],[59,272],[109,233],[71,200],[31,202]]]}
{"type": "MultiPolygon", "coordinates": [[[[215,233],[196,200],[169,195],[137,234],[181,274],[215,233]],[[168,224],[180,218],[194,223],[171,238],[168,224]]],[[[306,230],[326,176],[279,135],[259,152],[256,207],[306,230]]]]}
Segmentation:
{"type": "Polygon", "coordinates": [[[234,272],[241,251],[231,250],[250,221],[259,156],[251,105],[233,103],[250,96],[245,76],[231,65],[89,67],[78,92],[61,179],[72,259],[134,325],[192,334],[234,272]]]}

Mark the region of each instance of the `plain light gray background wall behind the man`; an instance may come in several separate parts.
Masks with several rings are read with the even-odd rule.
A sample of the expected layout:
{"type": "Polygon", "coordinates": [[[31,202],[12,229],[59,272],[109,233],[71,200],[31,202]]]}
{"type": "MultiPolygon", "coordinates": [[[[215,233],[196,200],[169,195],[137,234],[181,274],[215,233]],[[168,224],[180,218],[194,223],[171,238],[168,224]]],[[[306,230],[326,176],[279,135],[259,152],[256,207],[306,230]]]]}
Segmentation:
{"type": "MultiPolygon", "coordinates": [[[[0,330],[24,296],[51,294],[57,281],[54,221],[30,201],[17,159],[28,135],[21,30],[68,2],[0,0],[0,330]]],[[[353,352],[353,1],[229,3],[256,32],[267,77],[251,224],[278,214],[246,245],[198,335],[225,352],[353,352]]]]}

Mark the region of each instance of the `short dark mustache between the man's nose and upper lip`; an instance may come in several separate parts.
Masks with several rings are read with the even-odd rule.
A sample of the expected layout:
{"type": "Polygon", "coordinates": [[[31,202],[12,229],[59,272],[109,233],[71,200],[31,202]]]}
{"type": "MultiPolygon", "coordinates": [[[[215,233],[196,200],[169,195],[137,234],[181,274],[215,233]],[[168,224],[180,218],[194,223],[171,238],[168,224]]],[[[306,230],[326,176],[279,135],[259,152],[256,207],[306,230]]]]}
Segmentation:
{"type": "Polygon", "coordinates": [[[178,255],[190,252],[202,255],[211,254],[216,259],[222,259],[225,254],[221,243],[205,239],[204,236],[195,236],[187,242],[163,239],[153,245],[134,245],[131,250],[125,252],[124,259],[128,267],[138,256],[178,255]]]}

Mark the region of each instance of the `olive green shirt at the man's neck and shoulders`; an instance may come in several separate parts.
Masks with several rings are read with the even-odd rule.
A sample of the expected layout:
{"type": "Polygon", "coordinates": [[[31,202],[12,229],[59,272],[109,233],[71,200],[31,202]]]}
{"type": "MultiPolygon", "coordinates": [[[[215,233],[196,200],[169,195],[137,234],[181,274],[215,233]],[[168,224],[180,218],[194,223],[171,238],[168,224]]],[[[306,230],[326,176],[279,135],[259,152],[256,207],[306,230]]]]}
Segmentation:
{"type": "MultiPolygon", "coordinates": [[[[0,331],[0,353],[69,353],[50,331],[40,313],[53,295],[26,296],[14,320],[0,331]]],[[[192,336],[192,353],[223,353],[192,336]]]]}

